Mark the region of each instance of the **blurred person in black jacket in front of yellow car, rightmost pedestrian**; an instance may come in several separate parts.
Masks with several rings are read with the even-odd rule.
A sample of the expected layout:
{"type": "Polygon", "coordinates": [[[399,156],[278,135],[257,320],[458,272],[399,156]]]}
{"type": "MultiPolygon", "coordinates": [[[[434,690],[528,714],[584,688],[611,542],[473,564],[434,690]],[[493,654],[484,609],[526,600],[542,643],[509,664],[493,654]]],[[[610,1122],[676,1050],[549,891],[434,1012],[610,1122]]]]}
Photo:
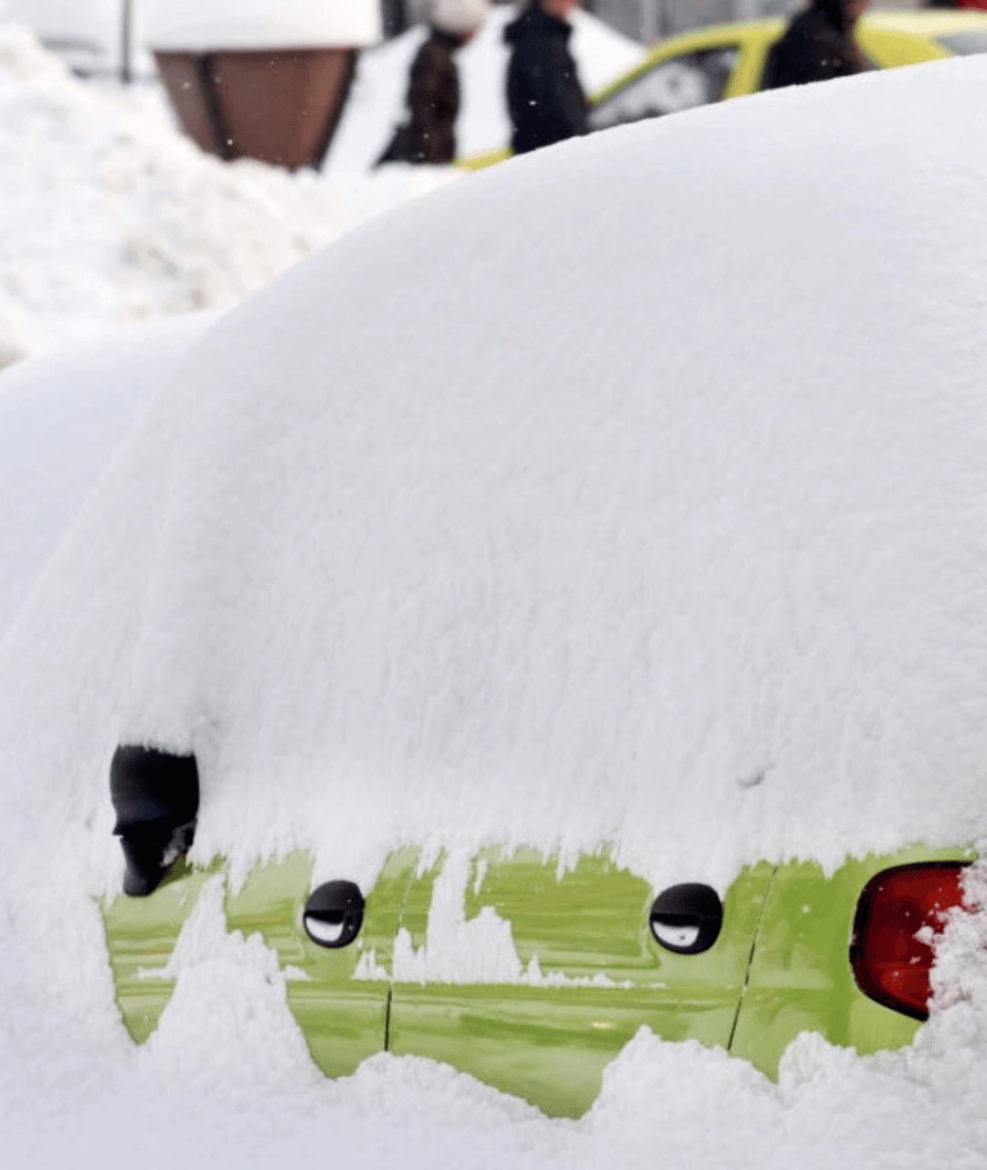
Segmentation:
{"type": "Polygon", "coordinates": [[[813,0],[771,50],[761,89],[849,77],[869,69],[854,40],[854,28],[869,5],[870,0],[813,0]]]}

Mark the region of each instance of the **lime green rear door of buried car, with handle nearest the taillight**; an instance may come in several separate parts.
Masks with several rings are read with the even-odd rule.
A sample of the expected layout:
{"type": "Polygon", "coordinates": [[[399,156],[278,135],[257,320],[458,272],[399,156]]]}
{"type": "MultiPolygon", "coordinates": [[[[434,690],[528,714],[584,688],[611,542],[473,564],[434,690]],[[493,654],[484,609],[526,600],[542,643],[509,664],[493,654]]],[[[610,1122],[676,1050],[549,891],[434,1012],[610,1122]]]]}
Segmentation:
{"type": "MultiPolygon", "coordinates": [[[[656,892],[606,855],[560,873],[531,851],[484,853],[458,907],[439,889],[443,863],[416,875],[406,899],[395,1054],[447,1061],[548,1114],[579,1116],[641,1026],[729,1047],[771,866],[727,890],[709,949],[679,954],[651,928],[656,892]]],[[[669,923],[672,942],[677,929],[669,923]]]]}

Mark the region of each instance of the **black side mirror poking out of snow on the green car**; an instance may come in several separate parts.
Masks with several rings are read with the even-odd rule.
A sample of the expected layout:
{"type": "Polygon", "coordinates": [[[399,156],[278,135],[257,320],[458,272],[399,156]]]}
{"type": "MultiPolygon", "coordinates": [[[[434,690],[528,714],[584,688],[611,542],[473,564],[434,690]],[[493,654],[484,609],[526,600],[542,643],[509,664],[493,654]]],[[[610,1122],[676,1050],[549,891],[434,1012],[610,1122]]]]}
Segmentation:
{"type": "Polygon", "coordinates": [[[124,893],[144,897],[192,847],[199,815],[195,757],[117,748],[110,764],[110,799],[117,814],[113,833],[126,863],[124,893]]]}

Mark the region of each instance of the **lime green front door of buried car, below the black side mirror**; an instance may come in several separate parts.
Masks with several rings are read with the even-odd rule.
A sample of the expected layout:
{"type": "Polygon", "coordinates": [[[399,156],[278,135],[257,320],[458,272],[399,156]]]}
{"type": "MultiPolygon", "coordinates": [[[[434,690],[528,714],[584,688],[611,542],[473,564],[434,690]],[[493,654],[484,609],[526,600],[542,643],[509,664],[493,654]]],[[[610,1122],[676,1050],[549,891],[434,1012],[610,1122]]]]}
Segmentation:
{"type": "Polygon", "coordinates": [[[120,895],[103,908],[110,965],[124,1024],[143,1044],[158,1027],[179,973],[175,948],[209,882],[223,883],[216,913],[228,931],[260,932],[277,955],[288,1007],[312,1059],[329,1076],[353,1073],[387,1045],[391,962],[401,903],[417,854],[393,854],[366,895],[357,940],[319,945],[304,925],[312,893],[308,853],[256,867],[235,894],[222,862],[179,862],[147,897],[120,895]]]}

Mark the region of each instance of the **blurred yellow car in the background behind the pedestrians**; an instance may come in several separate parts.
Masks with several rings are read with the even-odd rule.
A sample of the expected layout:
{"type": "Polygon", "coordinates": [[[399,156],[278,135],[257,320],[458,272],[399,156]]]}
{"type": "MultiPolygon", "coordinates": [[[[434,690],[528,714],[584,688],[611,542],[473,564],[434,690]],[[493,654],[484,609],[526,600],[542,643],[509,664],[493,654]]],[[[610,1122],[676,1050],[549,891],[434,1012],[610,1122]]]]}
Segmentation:
{"type": "MultiPolygon", "coordinates": [[[[757,94],[784,18],[698,28],[656,44],[641,64],[591,97],[591,130],[676,113],[727,97],[757,94]]],[[[876,12],[857,22],[856,39],[878,69],[987,53],[987,13],[876,12]]],[[[478,171],[509,158],[510,149],[460,163],[478,171]]]]}

